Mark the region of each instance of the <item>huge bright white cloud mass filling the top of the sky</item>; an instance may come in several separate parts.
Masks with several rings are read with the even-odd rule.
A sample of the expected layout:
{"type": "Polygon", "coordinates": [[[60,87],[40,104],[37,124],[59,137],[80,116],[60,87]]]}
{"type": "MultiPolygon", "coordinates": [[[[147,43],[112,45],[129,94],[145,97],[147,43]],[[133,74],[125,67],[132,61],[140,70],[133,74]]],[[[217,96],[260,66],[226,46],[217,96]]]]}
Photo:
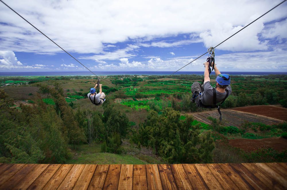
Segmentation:
{"type": "MultiPolygon", "coordinates": [[[[215,45],[228,35],[236,32],[256,17],[269,10],[280,1],[235,0],[226,3],[218,1],[181,1],[172,0],[141,1],[25,1],[10,0],[12,8],[55,40],[69,52],[95,53],[94,59],[120,59],[133,57],[133,53],[115,51],[104,52],[106,47],[127,40],[141,41],[148,46],[172,47],[194,43],[192,40],[179,42],[151,42],[158,37],[173,37],[178,34],[200,36],[206,47],[215,45]],[[151,6],[152,5],[152,6],[151,6]],[[212,16],[206,13],[206,6],[212,7],[212,16]],[[190,9],[192,8],[192,11],[190,9]],[[164,15],[164,16],[162,16],[164,15]],[[106,46],[103,44],[110,43],[106,46]],[[177,44],[179,43],[179,44],[177,44]]],[[[286,18],[286,3],[280,5],[263,18],[248,26],[218,49],[232,51],[262,50],[266,42],[258,39],[264,24],[286,18]]],[[[0,6],[1,50],[53,54],[62,52],[55,44],[42,36],[32,26],[5,6],[0,6]]],[[[280,27],[280,26],[278,26],[280,27]]],[[[277,28],[278,28],[277,27],[277,28]]],[[[267,36],[286,35],[266,32],[267,36]],[[269,34],[270,33],[270,34],[269,34]]],[[[280,30],[281,31],[281,30],[280,30]]]]}

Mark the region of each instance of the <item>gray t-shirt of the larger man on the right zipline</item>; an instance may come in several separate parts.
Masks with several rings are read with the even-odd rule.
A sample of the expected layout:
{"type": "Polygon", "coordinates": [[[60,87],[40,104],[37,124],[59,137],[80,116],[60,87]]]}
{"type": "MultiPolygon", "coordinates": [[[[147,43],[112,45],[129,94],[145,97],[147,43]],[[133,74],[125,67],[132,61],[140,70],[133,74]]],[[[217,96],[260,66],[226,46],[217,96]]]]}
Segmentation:
{"type": "MultiPolygon", "coordinates": [[[[201,93],[201,102],[205,106],[210,106],[213,105],[213,90],[212,86],[210,85],[210,82],[206,82],[203,84],[204,91],[201,93]]],[[[231,94],[231,86],[228,85],[226,87],[226,90],[228,90],[228,96],[231,94]]],[[[226,96],[226,92],[221,93],[216,90],[216,102],[219,103],[221,102],[226,96]]]]}

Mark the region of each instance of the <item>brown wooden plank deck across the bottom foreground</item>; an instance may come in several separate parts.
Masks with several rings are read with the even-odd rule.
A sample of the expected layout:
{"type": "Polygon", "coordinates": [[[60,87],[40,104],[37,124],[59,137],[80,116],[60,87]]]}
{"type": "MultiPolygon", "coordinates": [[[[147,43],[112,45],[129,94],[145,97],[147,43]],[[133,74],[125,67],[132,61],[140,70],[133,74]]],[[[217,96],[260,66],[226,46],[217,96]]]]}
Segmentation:
{"type": "Polygon", "coordinates": [[[287,189],[287,164],[0,164],[0,189],[58,188],[287,189]]]}

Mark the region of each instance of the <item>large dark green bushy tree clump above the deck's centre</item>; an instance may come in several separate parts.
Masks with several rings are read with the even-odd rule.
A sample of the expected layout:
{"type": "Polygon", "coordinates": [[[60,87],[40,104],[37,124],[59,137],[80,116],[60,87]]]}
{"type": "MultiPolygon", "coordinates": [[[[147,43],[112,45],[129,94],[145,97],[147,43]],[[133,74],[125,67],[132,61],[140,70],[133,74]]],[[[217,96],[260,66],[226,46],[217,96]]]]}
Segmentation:
{"type": "Polygon", "coordinates": [[[180,113],[166,108],[161,115],[151,110],[139,125],[139,142],[150,146],[168,163],[211,162],[214,142],[210,132],[200,135],[193,117],[180,119],[180,113]]]}

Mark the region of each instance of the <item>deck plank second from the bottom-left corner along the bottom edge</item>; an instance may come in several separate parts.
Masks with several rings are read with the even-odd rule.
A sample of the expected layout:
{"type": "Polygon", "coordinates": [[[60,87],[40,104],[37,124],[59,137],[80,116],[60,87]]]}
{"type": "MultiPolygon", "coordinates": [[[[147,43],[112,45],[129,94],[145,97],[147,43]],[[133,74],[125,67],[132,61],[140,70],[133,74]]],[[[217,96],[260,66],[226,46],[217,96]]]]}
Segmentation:
{"type": "Polygon", "coordinates": [[[34,170],[32,170],[29,175],[24,177],[14,188],[27,189],[48,166],[49,164],[37,164],[34,170]]]}

